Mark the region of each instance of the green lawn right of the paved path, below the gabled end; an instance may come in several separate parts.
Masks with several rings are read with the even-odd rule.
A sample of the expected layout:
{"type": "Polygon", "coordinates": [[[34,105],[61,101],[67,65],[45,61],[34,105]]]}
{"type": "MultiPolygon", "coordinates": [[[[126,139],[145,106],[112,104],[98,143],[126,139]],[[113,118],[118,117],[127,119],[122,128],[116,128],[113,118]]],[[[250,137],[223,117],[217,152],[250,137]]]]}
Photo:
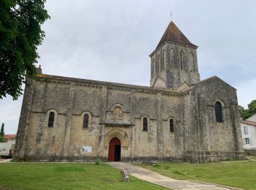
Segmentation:
{"type": "Polygon", "coordinates": [[[256,189],[256,161],[208,164],[159,163],[159,167],[136,165],[179,180],[200,180],[239,189],[256,189]]]}

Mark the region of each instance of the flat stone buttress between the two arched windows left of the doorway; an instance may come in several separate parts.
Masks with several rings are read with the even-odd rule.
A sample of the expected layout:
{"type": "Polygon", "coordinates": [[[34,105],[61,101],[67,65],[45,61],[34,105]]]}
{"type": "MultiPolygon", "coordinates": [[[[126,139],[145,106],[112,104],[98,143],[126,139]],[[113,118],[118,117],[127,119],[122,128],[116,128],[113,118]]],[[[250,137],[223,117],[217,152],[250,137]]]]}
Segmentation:
{"type": "Polygon", "coordinates": [[[74,96],[75,96],[75,83],[70,83],[69,101],[67,104],[66,126],[65,126],[65,132],[64,132],[64,143],[63,143],[63,151],[62,151],[64,159],[68,159],[68,156],[69,156],[70,126],[71,126],[72,112],[74,107],[74,96]]]}

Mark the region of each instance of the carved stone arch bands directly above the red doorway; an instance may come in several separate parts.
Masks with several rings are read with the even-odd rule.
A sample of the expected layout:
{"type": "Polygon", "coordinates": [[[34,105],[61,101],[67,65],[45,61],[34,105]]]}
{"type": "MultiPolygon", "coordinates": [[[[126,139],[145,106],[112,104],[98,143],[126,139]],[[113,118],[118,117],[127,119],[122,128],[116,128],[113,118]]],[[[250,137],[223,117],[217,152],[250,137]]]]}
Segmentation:
{"type": "Polygon", "coordinates": [[[121,141],[121,146],[129,146],[128,134],[121,129],[111,129],[107,134],[105,134],[104,145],[108,146],[113,137],[117,137],[121,141]]]}

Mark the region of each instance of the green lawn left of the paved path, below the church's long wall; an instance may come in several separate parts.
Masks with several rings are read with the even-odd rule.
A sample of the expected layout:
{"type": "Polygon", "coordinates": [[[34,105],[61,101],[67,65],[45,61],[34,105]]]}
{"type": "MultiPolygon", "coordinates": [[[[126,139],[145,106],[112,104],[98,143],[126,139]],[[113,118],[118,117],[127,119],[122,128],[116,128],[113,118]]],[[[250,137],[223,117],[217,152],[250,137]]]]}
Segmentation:
{"type": "Polygon", "coordinates": [[[120,172],[108,164],[3,163],[0,189],[164,189],[120,172]]]}

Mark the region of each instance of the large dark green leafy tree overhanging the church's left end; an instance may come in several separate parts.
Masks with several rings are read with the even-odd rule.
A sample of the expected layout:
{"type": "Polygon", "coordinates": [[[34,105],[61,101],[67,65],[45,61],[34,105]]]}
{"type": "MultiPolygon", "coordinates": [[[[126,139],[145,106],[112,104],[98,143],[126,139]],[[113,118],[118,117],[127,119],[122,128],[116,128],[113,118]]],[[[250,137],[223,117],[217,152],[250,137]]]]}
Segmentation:
{"type": "Polygon", "coordinates": [[[45,0],[0,0],[0,99],[18,99],[26,77],[37,74],[41,25],[48,18],[45,0]]]}

